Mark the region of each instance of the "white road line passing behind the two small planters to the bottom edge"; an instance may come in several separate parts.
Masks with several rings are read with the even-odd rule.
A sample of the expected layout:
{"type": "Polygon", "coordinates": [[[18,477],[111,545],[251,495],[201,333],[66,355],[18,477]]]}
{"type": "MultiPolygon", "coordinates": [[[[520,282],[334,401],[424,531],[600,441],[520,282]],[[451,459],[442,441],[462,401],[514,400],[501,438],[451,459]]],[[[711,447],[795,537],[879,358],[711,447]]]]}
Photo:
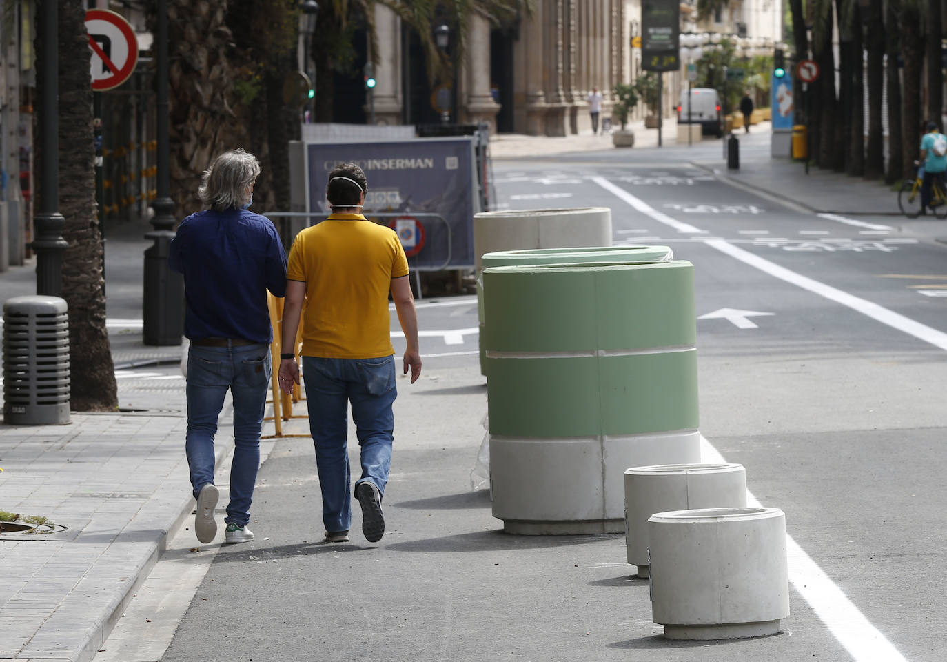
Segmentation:
{"type": "MultiPolygon", "coordinates": [[[[708,464],[727,463],[704,435],[701,435],[701,460],[708,464]]],[[[762,508],[749,490],[746,491],[746,505],[749,508],[762,508]]],[[[795,591],[809,603],[831,634],[857,662],[907,662],[788,534],[786,558],[789,581],[795,591]]]]}

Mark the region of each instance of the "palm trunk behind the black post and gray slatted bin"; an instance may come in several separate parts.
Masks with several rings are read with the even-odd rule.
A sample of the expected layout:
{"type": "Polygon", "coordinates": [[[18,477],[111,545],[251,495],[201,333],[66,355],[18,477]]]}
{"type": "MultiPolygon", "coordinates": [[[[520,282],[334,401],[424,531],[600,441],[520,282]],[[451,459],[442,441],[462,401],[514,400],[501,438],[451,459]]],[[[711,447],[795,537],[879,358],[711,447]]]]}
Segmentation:
{"type": "MultiPolygon", "coordinates": [[[[59,11],[59,208],[65,219],[63,299],[69,307],[70,402],[75,411],[114,411],[118,406],[115,367],[105,329],[102,243],[96,209],[95,148],[92,134],[92,78],[85,31],[85,3],[37,3],[59,11]]],[[[38,41],[42,30],[37,30],[38,41]]],[[[42,58],[43,47],[36,47],[42,58]]],[[[37,105],[43,98],[43,67],[37,67],[37,105]]]]}

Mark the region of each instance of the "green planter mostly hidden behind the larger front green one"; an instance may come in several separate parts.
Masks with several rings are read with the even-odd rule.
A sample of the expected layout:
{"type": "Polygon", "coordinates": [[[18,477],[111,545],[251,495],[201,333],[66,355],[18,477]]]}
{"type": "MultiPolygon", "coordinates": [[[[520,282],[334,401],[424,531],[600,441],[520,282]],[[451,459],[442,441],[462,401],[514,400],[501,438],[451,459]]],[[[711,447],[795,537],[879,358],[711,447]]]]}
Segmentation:
{"type": "MultiPolygon", "coordinates": [[[[497,251],[480,258],[484,269],[528,264],[561,264],[586,262],[664,262],[673,258],[668,246],[583,246],[578,248],[532,248],[519,251],[497,251]]],[[[487,359],[483,334],[486,319],[483,310],[483,274],[476,279],[477,317],[480,323],[480,374],[487,375],[487,359]]]]}

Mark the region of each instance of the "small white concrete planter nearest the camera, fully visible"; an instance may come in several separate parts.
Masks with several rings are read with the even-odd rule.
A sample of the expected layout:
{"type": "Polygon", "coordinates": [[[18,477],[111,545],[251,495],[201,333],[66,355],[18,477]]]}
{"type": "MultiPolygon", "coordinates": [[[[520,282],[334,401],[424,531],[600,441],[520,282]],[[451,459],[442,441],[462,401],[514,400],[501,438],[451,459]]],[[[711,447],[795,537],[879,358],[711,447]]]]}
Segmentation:
{"type": "Polygon", "coordinates": [[[786,517],[775,508],[649,520],[652,620],[671,639],[776,635],[789,616],[786,517]]]}

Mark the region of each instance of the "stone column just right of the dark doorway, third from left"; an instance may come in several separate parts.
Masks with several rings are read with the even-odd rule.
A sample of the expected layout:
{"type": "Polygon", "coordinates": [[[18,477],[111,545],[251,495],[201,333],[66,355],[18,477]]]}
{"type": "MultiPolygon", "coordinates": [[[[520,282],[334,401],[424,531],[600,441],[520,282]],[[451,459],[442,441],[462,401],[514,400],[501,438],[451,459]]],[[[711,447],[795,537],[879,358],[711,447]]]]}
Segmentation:
{"type": "Polygon", "coordinates": [[[520,39],[515,46],[516,111],[513,122],[517,132],[529,135],[545,134],[544,15],[544,5],[537,3],[532,18],[523,21],[520,39]]]}

